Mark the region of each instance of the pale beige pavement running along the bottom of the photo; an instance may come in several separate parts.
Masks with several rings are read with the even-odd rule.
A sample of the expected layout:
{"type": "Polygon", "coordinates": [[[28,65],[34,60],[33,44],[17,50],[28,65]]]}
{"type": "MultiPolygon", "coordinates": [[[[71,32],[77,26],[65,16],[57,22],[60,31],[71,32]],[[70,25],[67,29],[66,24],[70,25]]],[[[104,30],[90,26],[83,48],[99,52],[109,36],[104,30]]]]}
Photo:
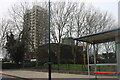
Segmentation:
{"type": "MultiPolygon", "coordinates": [[[[3,70],[2,80],[48,80],[47,72],[38,72],[30,70],[3,70]],[[7,79],[13,78],[13,79],[7,79]]],[[[97,80],[117,80],[116,76],[97,76],[97,80]]],[[[52,73],[52,80],[95,80],[95,76],[68,74],[68,73],[52,73]]]]}

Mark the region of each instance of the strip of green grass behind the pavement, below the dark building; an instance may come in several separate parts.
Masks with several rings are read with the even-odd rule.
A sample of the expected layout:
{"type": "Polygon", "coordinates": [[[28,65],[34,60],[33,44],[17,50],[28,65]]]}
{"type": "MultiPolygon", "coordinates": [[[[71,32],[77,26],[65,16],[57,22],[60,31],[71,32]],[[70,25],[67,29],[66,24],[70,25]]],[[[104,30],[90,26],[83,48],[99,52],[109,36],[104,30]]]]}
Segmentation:
{"type": "MultiPolygon", "coordinates": [[[[34,69],[48,69],[48,65],[34,67],[34,69]]],[[[69,70],[69,71],[87,71],[87,65],[81,64],[52,64],[52,70],[69,70]]],[[[95,67],[91,66],[90,70],[94,71],[95,67]]],[[[116,72],[116,66],[97,66],[97,71],[116,72]]]]}

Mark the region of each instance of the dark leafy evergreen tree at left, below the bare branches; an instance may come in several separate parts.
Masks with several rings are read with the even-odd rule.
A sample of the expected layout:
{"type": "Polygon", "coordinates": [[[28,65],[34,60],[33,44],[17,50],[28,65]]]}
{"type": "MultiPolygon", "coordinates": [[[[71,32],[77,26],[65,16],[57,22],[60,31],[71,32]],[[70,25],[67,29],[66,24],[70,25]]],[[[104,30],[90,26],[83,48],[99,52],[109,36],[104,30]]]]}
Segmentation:
{"type": "Polygon", "coordinates": [[[14,63],[21,63],[24,59],[24,42],[20,39],[15,39],[13,33],[7,34],[6,49],[10,55],[10,59],[14,63]]]}

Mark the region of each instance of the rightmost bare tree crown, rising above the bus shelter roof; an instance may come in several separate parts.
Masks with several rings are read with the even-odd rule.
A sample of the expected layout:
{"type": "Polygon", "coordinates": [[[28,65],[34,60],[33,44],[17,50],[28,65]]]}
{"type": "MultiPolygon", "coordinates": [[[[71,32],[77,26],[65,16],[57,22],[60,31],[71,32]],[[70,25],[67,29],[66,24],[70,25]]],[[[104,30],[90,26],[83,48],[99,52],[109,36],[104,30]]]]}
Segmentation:
{"type": "MultiPolygon", "coordinates": [[[[90,8],[87,10],[85,34],[93,34],[114,28],[114,19],[106,12],[102,13],[99,10],[90,8]]],[[[96,54],[100,45],[96,45],[96,54]]]]}

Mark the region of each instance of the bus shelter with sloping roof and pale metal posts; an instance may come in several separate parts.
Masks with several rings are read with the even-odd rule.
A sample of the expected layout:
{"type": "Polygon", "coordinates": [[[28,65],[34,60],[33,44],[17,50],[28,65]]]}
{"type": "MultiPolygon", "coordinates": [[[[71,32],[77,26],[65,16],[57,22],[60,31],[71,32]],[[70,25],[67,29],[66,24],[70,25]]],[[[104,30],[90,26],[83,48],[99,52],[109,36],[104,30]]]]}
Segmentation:
{"type": "MultiPolygon", "coordinates": [[[[99,32],[87,36],[82,36],[79,38],[75,38],[77,41],[86,42],[88,44],[93,45],[94,50],[94,66],[102,65],[102,64],[96,64],[96,55],[95,55],[95,44],[105,43],[105,42],[112,42],[115,41],[116,45],[116,56],[117,56],[117,63],[116,64],[103,64],[103,65],[116,65],[117,66],[117,72],[120,73],[120,28],[99,32]]],[[[89,66],[92,64],[89,64],[89,53],[87,49],[87,62],[88,62],[88,75],[90,75],[90,69],[89,66]]],[[[95,67],[96,71],[96,67],[95,67]]],[[[118,79],[120,80],[120,75],[118,75],[118,79]]]]}

